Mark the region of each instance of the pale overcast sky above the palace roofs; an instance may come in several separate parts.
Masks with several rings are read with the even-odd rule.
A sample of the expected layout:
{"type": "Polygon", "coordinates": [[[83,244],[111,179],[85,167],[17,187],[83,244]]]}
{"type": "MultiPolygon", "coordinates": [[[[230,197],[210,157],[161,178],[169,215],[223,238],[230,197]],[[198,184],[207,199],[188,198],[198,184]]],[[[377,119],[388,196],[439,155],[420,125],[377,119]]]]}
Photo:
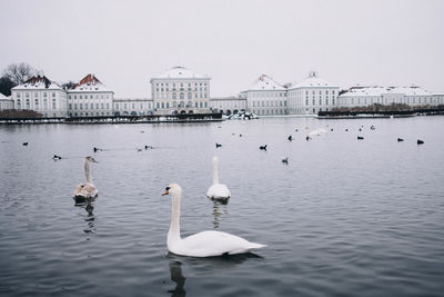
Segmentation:
{"type": "Polygon", "coordinates": [[[150,98],[182,65],[238,95],[281,83],[417,85],[444,92],[442,0],[0,0],[0,70],[28,62],[54,81],[95,73],[115,97],[150,98]]]}

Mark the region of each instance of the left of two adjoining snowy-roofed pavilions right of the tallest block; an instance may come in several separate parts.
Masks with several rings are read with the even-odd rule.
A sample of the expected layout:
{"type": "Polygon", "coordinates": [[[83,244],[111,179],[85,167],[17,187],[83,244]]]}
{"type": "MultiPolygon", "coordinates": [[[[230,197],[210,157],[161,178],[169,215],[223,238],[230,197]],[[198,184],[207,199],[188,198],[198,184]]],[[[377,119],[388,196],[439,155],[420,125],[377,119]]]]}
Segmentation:
{"type": "Polygon", "coordinates": [[[266,75],[241,92],[248,111],[259,116],[286,115],[286,88],[266,75]]]}

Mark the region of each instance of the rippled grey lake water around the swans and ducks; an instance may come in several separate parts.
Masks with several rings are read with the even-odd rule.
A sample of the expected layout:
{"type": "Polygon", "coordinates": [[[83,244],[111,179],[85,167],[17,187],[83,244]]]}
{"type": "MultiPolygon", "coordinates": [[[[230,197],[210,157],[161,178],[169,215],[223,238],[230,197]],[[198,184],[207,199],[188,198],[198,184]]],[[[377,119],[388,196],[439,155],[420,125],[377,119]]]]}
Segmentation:
{"type": "Polygon", "coordinates": [[[0,295],[443,296],[443,128],[444,117],[0,126],[0,295]],[[75,206],[88,155],[99,197],[75,206]],[[228,205],[205,197],[213,156],[228,205]],[[268,247],[168,254],[171,182],[182,236],[268,247]]]}

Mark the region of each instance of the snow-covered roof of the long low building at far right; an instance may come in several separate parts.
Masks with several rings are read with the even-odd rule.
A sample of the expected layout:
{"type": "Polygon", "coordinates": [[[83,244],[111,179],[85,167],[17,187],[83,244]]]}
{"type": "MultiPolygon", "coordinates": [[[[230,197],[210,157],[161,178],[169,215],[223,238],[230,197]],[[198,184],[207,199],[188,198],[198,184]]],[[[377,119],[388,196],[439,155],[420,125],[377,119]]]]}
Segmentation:
{"type": "Polygon", "coordinates": [[[341,97],[355,97],[355,96],[382,96],[383,93],[402,93],[405,96],[431,96],[428,91],[420,87],[352,87],[341,97]]]}

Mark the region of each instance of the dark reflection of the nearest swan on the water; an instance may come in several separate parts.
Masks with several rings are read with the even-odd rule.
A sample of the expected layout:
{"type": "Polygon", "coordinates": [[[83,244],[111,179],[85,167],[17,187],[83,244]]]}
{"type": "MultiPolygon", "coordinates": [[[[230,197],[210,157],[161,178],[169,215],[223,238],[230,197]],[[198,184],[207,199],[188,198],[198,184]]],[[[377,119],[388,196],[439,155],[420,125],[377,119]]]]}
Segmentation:
{"type": "Polygon", "coordinates": [[[211,274],[220,274],[224,269],[234,268],[248,259],[262,259],[261,256],[253,253],[204,258],[184,257],[168,253],[167,258],[170,259],[169,267],[171,280],[176,284],[174,289],[168,290],[168,293],[171,293],[172,297],[186,296],[186,291],[184,289],[186,277],[184,277],[182,274],[182,265],[191,268],[200,268],[199,270],[204,270],[205,276],[209,276],[211,274]]]}

